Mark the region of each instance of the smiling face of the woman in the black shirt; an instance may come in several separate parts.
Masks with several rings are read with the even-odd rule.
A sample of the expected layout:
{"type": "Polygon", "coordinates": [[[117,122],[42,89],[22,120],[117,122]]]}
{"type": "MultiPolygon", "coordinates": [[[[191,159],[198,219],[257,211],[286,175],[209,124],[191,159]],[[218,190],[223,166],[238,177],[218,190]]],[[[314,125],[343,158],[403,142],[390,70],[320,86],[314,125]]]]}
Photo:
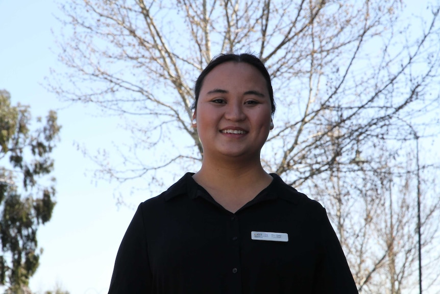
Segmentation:
{"type": "Polygon", "coordinates": [[[271,127],[271,101],[261,73],[225,62],[207,74],[194,111],[204,157],[255,159],[271,127]]]}

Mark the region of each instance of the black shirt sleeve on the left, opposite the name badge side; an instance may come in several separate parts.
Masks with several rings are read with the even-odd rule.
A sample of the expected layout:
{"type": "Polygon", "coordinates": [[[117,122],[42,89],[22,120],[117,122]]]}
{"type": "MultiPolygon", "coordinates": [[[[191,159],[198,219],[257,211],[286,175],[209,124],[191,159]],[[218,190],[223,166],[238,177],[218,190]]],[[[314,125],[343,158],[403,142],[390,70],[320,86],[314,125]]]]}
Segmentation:
{"type": "Polygon", "coordinates": [[[151,271],[147,242],[139,205],[119,245],[109,294],[150,293],[151,271]]]}

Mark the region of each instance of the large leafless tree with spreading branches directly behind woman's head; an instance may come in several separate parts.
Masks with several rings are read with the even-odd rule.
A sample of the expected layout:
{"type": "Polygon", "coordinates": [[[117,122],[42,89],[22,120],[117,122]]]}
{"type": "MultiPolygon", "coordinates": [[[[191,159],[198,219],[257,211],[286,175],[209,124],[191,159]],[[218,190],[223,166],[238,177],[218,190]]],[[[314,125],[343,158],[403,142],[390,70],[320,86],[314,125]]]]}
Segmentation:
{"type": "Polygon", "coordinates": [[[405,225],[414,210],[406,198],[395,200],[399,173],[384,162],[398,164],[402,144],[395,142],[406,122],[435,123],[426,114],[440,100],[439,6],[426,7],[422,17],[398,0],[72,0],[61,4],[60,17],[59,59],[68,70],[49,85],[62,99],[124,118],[133,142],[115,143],[113,165],[103,150],[86,152],[99,165],[97,177],[147,178],[154,195],[202,159],[190,127],[200,71],[218,53],[256,53],[278,105],[265,167],[331,203],[359,289],[375,292],[385,271],[399,293],[414,263],[412,239],[405,239],[413,237],[405,225]],[[359,182],[353,157],[378,148],[381,156],[363,153],[371,170],[359,182]]]}

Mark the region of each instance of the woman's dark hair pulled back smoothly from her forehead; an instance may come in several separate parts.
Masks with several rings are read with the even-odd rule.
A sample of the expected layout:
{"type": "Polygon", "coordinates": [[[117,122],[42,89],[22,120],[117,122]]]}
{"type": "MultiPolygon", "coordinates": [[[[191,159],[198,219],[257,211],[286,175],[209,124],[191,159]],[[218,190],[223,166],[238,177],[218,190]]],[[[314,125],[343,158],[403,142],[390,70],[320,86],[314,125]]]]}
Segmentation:
{"type": "Polygon", "coordinates": [[[266,67],[264,66],[263,62],[256,57],[255,55],[243,53],[243,54],[220,54],[215,56],[209,64],[205,67],[205,69],[202,71],[200,76],[197,78],[197,81],[195,81],[194,86],[194,95],[195,95],[195,101],[192,103],[191,108],[196,109],[197,108],[197,102],[199,101],[199,94],[200,90],[203,85],[203,80],[205,79],[206,75],[211,72],[215,66],[228,62],[245,62],[248,64],[251,64],[254,66],[260,73],[263,75],[264,79],[266,80],[267,84],[267,91],[269,92],[269,98],[271,99],[271,106],[272,106],[272,115],[275,113],[275,101],[274,101],[274,91],[272,89],[272,82],[271,82],[271,76],[267,72],[266,67]]]}

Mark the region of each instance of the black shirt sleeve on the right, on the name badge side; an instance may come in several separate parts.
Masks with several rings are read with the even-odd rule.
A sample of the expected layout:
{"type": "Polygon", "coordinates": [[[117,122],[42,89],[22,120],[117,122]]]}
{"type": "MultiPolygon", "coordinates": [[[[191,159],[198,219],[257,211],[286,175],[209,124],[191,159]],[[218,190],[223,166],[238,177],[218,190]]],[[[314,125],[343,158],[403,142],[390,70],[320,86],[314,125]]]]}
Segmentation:
{"type": "Polygon", "coordinates": [[[323,209],[321,219],[320,239],[323,254],[316,268],[314,293],[358,293],[347,259],[330,224],[325,209],[323,209]]]}

